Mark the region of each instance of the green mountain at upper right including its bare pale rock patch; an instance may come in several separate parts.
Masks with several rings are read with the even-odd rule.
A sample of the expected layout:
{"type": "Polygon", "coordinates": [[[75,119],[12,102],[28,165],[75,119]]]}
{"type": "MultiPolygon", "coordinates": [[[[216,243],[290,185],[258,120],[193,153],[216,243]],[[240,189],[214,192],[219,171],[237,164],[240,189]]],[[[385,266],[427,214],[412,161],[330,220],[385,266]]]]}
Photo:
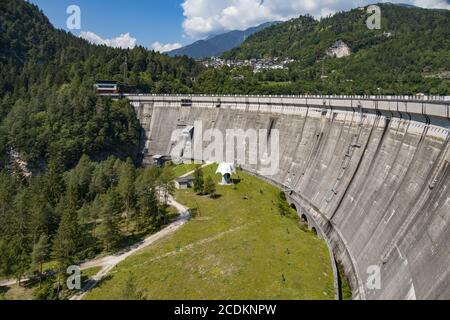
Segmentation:
{"type": "Polygon", "coordinates": [[[321,75],[325,68],[343,79],[376,78],[380,87],[386,79],[402,83],[449,70],[449,10],[378,6],[383,13],[380,30],[367,28],[369,15],[361,8],[321,20],[300,16],[254,34],[223,56],[238,60],[289,57],[297,61],[298,70],[306,72],[304,77],[321,75]]]}

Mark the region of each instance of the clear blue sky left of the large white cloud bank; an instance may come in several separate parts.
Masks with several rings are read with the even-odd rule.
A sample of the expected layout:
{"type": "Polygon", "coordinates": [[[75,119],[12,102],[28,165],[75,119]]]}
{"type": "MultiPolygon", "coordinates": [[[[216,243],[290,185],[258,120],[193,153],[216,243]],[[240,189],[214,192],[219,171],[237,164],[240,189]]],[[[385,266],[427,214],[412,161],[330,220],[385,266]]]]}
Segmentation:
{"type": "Polygon", "coordinates": [[[151,47],[157,41],[190,42],[183,37],[182,0],[31,0],[43,10],[51,23],[67,30],[66,9],[77,5],[81,9],[81,30],[94,32],[105,39],[130,33],[139,45],[151,47]]]}

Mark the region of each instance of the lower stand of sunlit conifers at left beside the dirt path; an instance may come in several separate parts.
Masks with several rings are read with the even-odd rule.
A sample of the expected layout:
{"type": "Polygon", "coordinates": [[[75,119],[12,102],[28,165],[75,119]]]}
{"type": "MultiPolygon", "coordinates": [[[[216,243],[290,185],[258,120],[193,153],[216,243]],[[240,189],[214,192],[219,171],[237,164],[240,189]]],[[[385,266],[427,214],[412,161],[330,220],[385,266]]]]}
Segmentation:
{"type": "Polygon", "coordinates": [[[52,260],[57,278],[46,298],[57,297],[53,281],[65,279],[68,266],[116,252],[170,221],[156,190],[172,193],[173,179],[171,167],[136,170],[131,159],[87,156],[65,173],[54,163],[28,180],[2,173],[0,275],[40,278],[52,260]]]}

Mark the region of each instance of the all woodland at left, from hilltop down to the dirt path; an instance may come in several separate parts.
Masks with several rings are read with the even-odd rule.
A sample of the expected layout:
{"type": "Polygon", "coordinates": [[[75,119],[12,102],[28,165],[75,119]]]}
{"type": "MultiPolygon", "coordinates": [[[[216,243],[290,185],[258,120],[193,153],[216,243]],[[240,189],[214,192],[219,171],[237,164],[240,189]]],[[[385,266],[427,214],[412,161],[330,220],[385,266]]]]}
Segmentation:
{"type": "Polygon", "coordinates": [[[187,92],[199,70],[193,60],[142,47],[89,44],[53,28],[24,0],[0,1],[0,278],[34,275],[43,281],[35,298],[55,299],[67,266],[168,222],[156,190],[171,192],[170,168],[135,167],[134,109],[97,97],[93,84],[115,79],[135,91],[187,92]],[[44,277],[50,261],[58,281],[44,277]]]}

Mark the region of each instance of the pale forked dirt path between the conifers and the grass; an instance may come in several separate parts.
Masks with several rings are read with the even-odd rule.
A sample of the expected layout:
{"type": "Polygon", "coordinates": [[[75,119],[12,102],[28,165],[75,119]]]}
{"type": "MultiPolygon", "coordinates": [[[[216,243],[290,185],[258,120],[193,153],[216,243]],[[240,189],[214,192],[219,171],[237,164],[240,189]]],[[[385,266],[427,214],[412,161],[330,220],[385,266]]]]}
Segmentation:
{"type": "Polygon", "coordinates": [[[129,256],[135,254],[139,250],[142,250],[154,244],[158,240],[161,240],[167,237],[168,235],[173,234],[189,220],[190,218],[189,209],[183,206],[182,204],[178,203],[172,196],[169,197],[169,205],[176,208],[180,213],[178,219],[173,223],[171,223],[169,226],[159,231],[158,233],[149,236],[144,241],[130,247],[126,252],[83,263],[80,266],[81,270],[86,270],[95,267],[101,267],[102,269],[94,277],[88,280],[87,284],[82,289],[81,293],[74,295],[70,300],[83,299],[86,293],[92,290],[119,263],[124,261],[129,256]]]}

